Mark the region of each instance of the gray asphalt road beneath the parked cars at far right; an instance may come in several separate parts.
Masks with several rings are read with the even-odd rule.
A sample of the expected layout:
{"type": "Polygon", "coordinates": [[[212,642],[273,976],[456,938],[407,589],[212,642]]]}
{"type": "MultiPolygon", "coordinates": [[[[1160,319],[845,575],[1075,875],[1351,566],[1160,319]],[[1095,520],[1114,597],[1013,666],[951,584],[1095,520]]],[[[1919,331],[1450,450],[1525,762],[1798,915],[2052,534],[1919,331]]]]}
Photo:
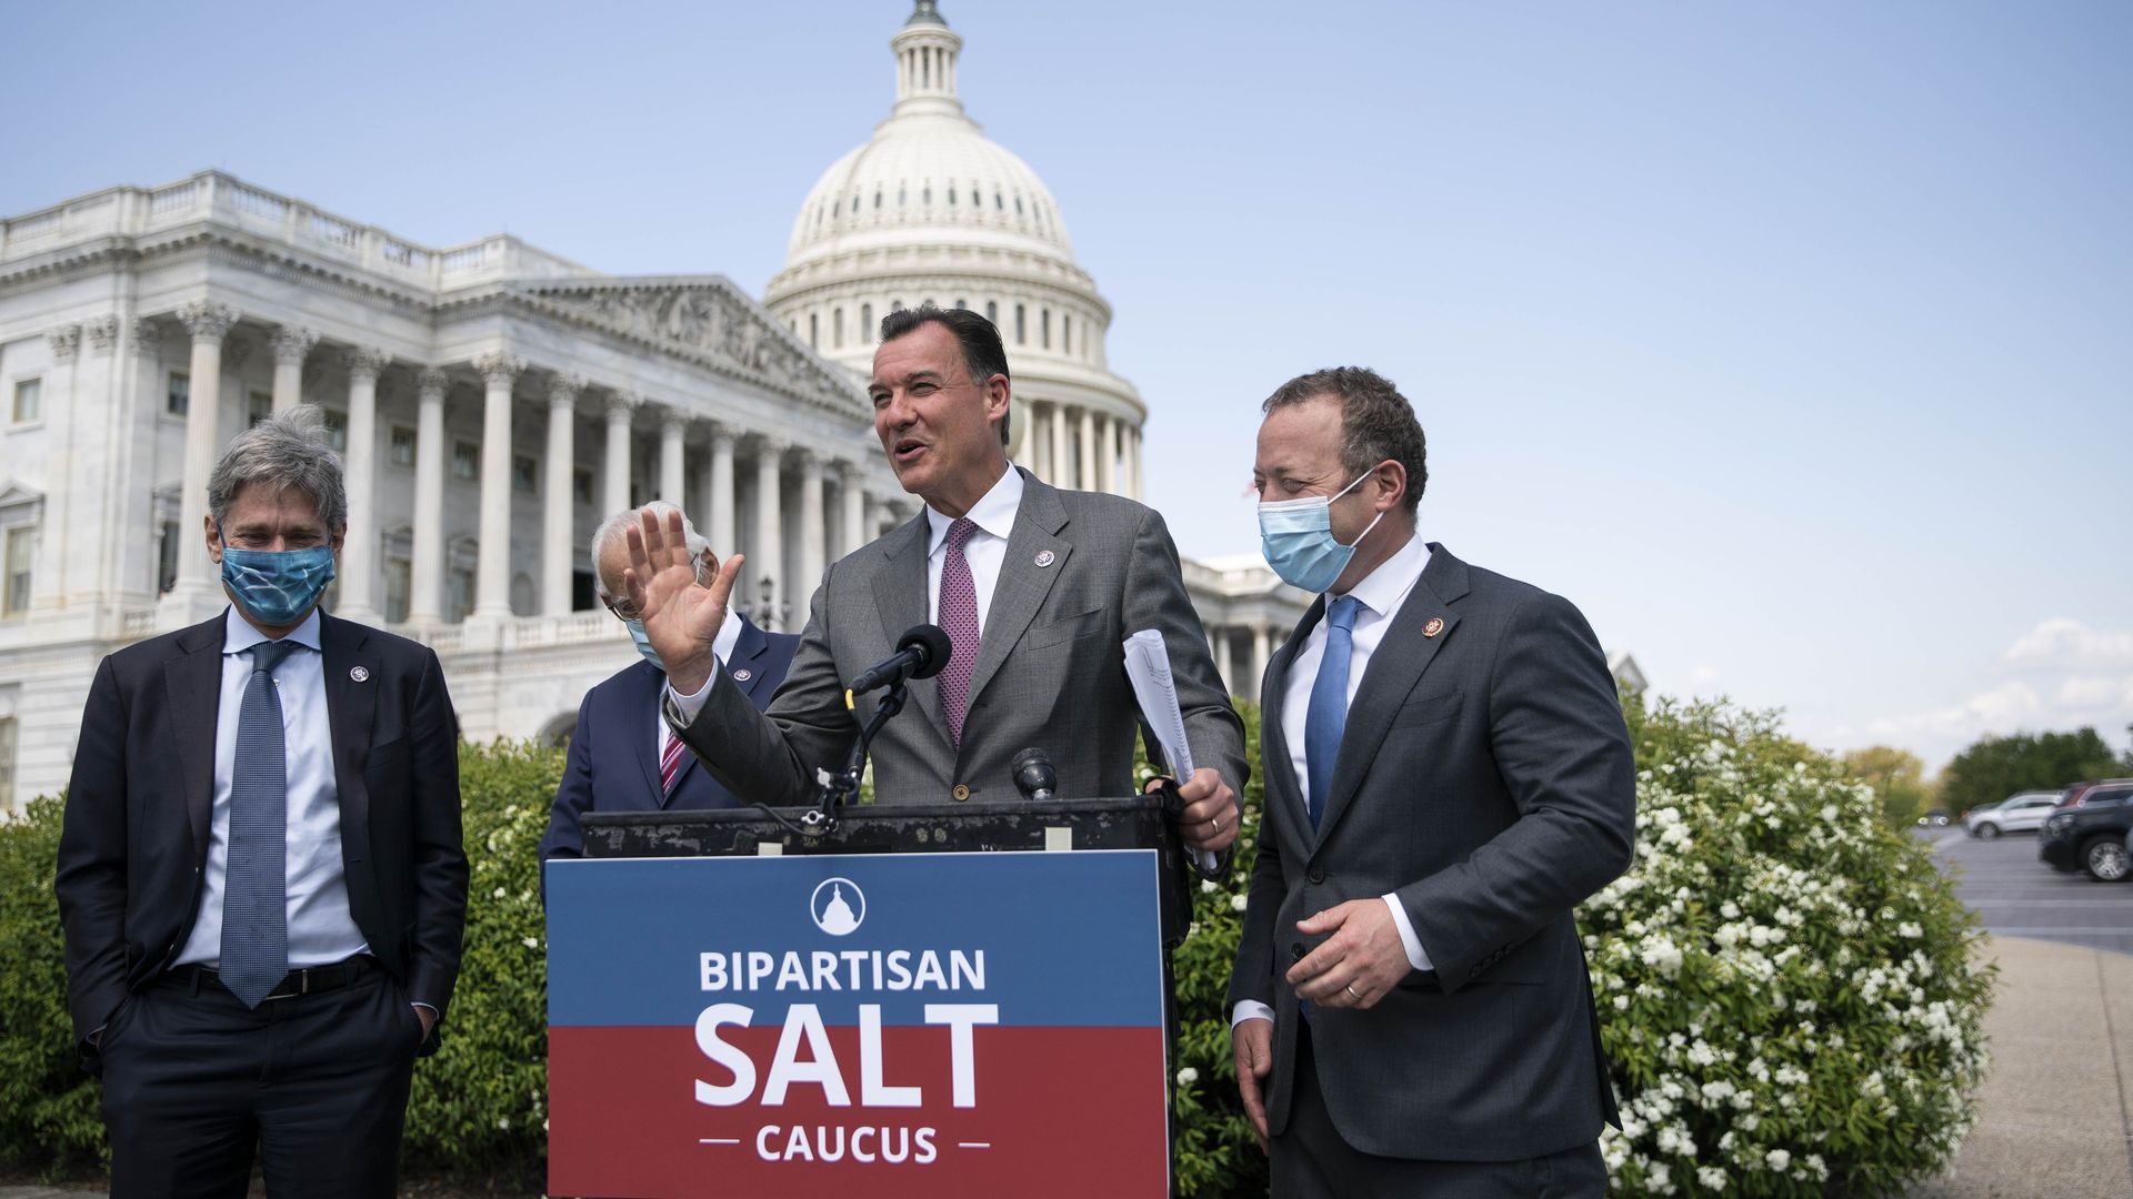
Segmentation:
{"type": "Polygon", "coordinates": [[[1952,868],[1956,894],[2001,937],[2133,954],[2133,881],[2060,875],[2037,860],[2037,836],[1977,841],[1960,828],[1920,830],[1952,868]]]}

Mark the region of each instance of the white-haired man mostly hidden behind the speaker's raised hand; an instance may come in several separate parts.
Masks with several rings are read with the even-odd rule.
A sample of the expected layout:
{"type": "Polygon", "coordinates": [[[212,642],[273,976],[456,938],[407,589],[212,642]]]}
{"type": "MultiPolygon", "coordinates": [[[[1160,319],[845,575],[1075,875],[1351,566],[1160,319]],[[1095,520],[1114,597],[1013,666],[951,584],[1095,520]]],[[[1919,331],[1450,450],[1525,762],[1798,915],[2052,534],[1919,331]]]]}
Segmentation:
{"type": "MultiPolygon", "coordinates": [[[[659,512],[661,521],[670,514],[680,516],[689,550],[695,561],[706,563],[700,570],[708,576],[712,570],[708,563],[715,559],[689,516],[663,499],[655,499],[646,508],[659,512]]],[[[589,811],[738,806],[732,792],[712,779],[710,770],[704,770],[689,747],[659,719],[665,666],[644,636],[644,621],[629,610],[629,600],[623,595],[623,572],[629,570],[625,538],[636,521],[638,510],[629,508],[608,516],[593,531],[593,585],[599,591],[599,602],[629,627],[629,638],[642,661],[625,666],[587,691],[578,706],[578,730],[570,738],[570,760],[563,766],[563,781],[555,789],[548,832],[540,841],[544,860],[584,853],[578,819],[589,811]]],[[[736,610],[725,614],[715,646],[727,676],[761,710],[770,704],[779,683],[785,681],[785,668],[791,664],[800,638],[766,634],[736,610]]]]}

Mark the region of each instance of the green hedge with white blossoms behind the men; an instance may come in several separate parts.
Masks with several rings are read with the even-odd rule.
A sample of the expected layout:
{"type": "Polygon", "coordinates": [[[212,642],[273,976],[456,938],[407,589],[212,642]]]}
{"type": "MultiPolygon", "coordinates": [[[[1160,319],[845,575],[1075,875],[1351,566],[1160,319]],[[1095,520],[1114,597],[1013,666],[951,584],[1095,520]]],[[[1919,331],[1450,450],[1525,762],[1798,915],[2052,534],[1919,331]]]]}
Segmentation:
{"type": "MultiPolygon", "coordinates": [[[[1258,715],[1231,877],[1199,883],[1175,958],[1180,1190],[1265,1195],[1237,1101],[1222,996],[1254,836],[1258,715]]],[[[1630,704],[1638,858],[1581,911],[1627,1126],[1617,1195],[1896,1193],[1975,1116],[1990,975],[1975,917],[1875,798],[1775,721],[1630,704]]],[[[416,1067],[407,1173],[538,1190],[546,1146],[546,971],[535,843],[563,766],[525,745],[461,749],[474,862],[465,966],[444,1050],[416,1067]]],[[[1141,777],[1152,770],[1143,764],[1141,777]]],[[[60,802],[0,824],[0,1169],[102,1158],[96,1084],[62,1001],[51,875],[60,802]]],[[[1416,1086],[1427,1086],[1418,1080],[1416,1086]]]]}

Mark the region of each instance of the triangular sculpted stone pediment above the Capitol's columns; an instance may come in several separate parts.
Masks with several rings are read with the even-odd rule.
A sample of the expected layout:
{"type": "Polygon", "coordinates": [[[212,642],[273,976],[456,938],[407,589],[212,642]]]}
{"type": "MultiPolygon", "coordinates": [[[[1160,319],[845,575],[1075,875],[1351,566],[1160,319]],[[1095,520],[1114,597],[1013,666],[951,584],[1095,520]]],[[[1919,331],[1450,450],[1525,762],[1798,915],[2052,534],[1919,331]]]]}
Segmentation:
{"type": "Polygon", "coordinates": [[[868,416],[851,375],[723,275],[508,284],[529,307],[693,358],[838,414],[868,416]]]}

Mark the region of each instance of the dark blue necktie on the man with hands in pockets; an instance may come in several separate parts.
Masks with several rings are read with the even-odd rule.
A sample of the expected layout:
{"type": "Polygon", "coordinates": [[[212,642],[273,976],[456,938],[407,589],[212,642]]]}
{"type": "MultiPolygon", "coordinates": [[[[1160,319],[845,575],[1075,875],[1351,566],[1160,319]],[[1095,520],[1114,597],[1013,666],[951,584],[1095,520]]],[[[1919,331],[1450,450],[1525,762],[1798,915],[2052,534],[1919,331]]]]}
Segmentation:
{"type": "Polygon", "coordinates": [[[273,670],[296,642],[252,646],[230,770],[230,849],[222,868],[222,986],[258,1007],[288,975],[288,747],[273,670]]]}

